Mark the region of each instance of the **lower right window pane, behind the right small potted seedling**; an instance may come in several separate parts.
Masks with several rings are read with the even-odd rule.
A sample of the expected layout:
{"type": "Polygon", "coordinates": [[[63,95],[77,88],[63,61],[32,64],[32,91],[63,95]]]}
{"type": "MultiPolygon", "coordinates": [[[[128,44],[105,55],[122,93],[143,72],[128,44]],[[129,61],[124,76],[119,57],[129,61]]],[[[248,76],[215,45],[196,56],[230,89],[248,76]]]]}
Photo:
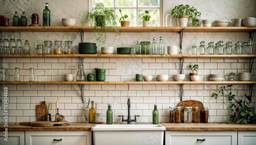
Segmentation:
{"type": "MultiPolygon", "coordinates": [[[[142,20],[141,17],[145,15],[145,10],[138,10],[139,11],[139,17],[138,17],[138,21],[139,21],[139,26],[142,26],[142,20]]],[[[153,9],[153,10],[147,10],[148,11],[148,15],[151,16],[150,21],[152,21],[152,25],[151,26],[159,26],[159,10],[158,9],[153,9]]]]}

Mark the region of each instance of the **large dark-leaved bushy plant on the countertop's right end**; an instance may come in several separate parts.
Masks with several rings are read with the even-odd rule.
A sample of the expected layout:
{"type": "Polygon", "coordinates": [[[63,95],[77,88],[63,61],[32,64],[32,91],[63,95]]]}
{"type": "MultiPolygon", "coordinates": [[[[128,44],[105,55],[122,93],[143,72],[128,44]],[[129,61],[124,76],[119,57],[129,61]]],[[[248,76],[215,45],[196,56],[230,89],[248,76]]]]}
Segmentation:
{"type": "MultiPolygon", "coordinates": [[[[250,106],[251,96],[247,96],[246,94],[243,97],[236,97],[236,95],[232,94],[232,84],[221,87],[221,90],[216,94],[212,93],[211,97],[224,96],[228,99],[230,106],[228,109],[230,112],[229,119],[224,123],[226,124],[256,124],[256,113],[254,111],[254,107],[250,106]]],[[[225,102],[223,102],[225,104],[225,102]]]]}

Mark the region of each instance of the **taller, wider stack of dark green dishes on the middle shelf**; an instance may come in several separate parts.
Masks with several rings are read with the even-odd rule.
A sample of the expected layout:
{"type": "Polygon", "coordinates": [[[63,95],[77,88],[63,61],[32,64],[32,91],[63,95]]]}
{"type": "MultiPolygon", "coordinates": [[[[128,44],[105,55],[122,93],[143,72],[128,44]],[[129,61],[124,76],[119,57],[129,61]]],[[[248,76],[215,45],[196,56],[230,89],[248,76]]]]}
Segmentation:
{"type": "Polygon", "coordinates": [[[78,51],[79,51],[79,54],[96,54],[97,53],[96,43],[89,43],[89,42],[79,43],[78,51]]]}

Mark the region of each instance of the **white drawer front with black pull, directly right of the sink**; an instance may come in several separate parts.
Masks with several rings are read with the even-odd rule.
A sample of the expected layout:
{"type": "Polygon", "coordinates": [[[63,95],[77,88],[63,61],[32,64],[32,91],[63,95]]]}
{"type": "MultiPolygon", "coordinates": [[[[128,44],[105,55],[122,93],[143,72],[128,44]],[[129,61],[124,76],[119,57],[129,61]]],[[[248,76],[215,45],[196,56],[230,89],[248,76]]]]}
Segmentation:
{"type": "Polygon", "coordinates": [[[165,131],[165,144],[237,145],[237,131],[165,131]]]}

